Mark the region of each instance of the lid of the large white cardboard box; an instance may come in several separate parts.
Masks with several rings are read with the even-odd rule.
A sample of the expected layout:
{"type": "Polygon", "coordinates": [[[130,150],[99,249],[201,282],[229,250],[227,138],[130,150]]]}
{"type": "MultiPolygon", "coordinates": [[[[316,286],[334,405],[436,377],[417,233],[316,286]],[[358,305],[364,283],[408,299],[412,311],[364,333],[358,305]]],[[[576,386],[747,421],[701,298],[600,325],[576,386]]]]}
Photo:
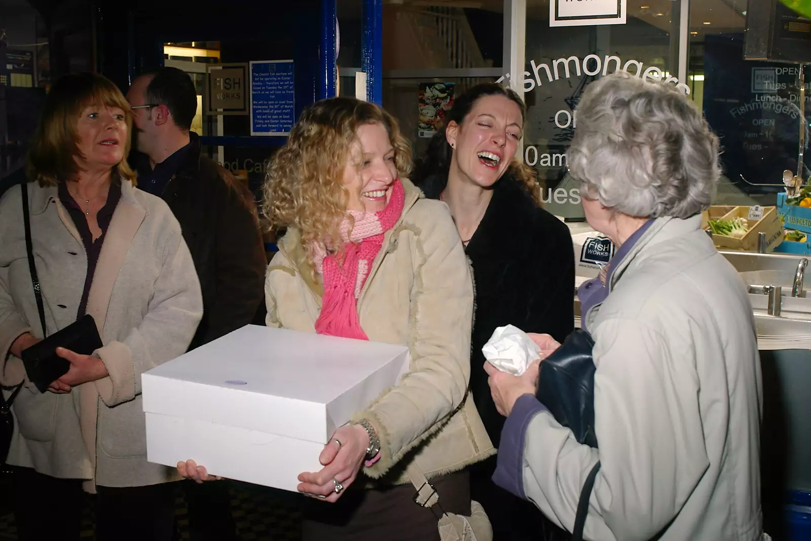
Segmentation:
{"type": "Polygon", "coordinates": [[[326,443],[409,359],[406,346],[247,325],[144,372],[144,411],[326,443]]]}

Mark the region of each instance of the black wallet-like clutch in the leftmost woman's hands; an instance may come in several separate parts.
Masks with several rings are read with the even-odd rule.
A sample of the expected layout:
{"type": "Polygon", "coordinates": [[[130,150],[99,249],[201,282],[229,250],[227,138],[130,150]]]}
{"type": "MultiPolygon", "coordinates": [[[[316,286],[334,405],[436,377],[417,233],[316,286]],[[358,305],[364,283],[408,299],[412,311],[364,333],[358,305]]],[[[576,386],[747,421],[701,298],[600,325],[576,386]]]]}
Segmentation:
{"type": "Polygon", "coordinates": [[[62,330],[23,350],[21,356],[28,379],[40,389],[41,393],[48,386],[64,376],[71,363],[56,354],[58,347],[75,353],[90,355],[102,346],[101,337],[96,328],[93,316],[85,315],[62,330]]]}

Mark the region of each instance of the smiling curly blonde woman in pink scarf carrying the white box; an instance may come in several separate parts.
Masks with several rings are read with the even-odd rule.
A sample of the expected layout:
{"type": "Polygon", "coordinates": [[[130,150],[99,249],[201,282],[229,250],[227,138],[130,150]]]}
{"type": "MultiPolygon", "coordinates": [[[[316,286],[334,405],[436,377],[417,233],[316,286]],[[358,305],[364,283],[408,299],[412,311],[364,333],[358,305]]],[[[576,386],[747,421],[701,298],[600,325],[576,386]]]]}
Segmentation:
{"type": "MultiPolygon", "coordinates": [[[[264,213],[286,228],[265,282],[268,326],[411,354],[400,383],[324,446],[324,468],[298,476],[315,496],[305,540],[440,539],[442,513],[483,514],[464,470],[495,453],[468,392],[470,266],[448,207],[423,197],[410,167],[390,114],[332,98],[303,112],[268,170],[264,213]],[[414,503],[415,470],[440,505],[414,503]]],[[[210,479],[191,461],[178,470],[210,479]]]]}

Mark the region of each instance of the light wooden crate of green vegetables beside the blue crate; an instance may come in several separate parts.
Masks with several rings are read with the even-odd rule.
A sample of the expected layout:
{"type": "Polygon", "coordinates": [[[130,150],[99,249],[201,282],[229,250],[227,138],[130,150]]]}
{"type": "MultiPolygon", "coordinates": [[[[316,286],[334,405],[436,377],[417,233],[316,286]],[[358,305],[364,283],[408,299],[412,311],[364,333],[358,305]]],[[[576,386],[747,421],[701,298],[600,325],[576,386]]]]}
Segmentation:
{"type": "Polygon", "coordinates": [[[775,207],[763,207],[760,220],[749,220],[749,207],[734,207],[722,218],[709,221],[715,246],[741,251],[757,251],[757,234],[766,234],[767,251],[783,242],[783,223],[775,207]]]}

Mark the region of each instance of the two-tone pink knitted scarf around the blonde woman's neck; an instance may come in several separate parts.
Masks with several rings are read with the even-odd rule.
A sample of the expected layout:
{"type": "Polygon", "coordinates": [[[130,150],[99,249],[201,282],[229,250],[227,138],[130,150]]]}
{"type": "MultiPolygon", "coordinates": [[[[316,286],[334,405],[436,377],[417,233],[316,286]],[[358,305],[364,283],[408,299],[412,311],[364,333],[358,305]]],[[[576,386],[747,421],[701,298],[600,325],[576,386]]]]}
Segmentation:
{"type": "Polygon", "coordinates": [[[315,247],[315,268],[324,277],[324,298],[321,314],[315,321],[315,332],[333,337],[368,340],[358,318],[358,297],[363,290],[380,247],[383,235],[392,229],[403,212],[405,191],[397,180],[392,186],[392,195],[386,208],[378,213],[364,213],[350,210],[354,226],[350,231],[350,220],[341,222],[344,255],[342,262],[334,254],[327,254],[323,246],[315,247]]]}

